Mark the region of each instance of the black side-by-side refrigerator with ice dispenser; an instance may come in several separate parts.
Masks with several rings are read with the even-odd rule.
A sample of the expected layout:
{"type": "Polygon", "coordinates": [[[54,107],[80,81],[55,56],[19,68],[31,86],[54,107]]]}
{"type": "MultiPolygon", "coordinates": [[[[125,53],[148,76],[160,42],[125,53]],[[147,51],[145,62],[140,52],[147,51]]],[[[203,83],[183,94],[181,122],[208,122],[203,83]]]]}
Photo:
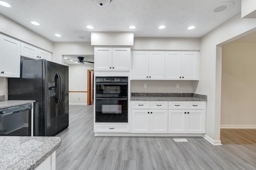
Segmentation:
{"type": "Polygon", "coordinates": [[[21,60],[20,78],[8,78],[8,100],[36,100],[34,136],[54,136],[68,127],[68,66],[21,60]]]}

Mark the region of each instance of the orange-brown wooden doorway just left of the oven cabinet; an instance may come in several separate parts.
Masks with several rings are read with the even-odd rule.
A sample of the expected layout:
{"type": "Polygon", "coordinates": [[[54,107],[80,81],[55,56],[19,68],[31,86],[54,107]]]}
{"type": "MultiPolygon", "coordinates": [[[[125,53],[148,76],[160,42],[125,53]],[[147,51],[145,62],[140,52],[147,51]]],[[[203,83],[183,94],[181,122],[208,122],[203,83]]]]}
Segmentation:
{"type": "Polygon", "coordinates": [[[87,105],[94,103],[94,69],[87,70],[87,105]]]}

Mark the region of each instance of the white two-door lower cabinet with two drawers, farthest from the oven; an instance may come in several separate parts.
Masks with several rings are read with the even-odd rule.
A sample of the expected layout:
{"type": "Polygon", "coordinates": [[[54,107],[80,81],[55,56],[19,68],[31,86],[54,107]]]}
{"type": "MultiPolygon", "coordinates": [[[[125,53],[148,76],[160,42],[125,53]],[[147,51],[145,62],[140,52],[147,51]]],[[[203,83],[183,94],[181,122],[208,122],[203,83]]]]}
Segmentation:
{"type": "Polygon", "coordinates": [[[204,101],[169,102],[168,106],[168,133],[205,133],[204,101]]]}

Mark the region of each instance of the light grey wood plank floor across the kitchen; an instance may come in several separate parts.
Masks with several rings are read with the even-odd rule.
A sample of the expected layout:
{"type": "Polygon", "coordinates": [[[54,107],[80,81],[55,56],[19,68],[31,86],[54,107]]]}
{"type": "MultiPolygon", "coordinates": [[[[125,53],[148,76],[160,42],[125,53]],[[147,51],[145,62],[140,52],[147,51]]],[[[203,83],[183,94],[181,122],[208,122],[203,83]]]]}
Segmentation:
{"type": "Polygon", "coordinates": [[[201,137],[174,142],[173,137],[94,136],[92,105],[70,105],[69,113],[69,127],[56,135],[62,138],[57,170],[256,170],[255,142],[213,146],[201,137]]]}

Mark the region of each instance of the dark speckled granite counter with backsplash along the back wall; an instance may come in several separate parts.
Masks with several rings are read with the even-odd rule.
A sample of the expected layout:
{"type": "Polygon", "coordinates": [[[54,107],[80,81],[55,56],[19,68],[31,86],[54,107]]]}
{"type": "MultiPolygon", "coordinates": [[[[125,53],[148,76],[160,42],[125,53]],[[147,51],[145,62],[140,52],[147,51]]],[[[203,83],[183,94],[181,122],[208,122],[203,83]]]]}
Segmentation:
{"type": "Polygon", "coordinates": [[[207,101],[206,95],[194,93],[131,93],[131,101],[207,101]]]}

